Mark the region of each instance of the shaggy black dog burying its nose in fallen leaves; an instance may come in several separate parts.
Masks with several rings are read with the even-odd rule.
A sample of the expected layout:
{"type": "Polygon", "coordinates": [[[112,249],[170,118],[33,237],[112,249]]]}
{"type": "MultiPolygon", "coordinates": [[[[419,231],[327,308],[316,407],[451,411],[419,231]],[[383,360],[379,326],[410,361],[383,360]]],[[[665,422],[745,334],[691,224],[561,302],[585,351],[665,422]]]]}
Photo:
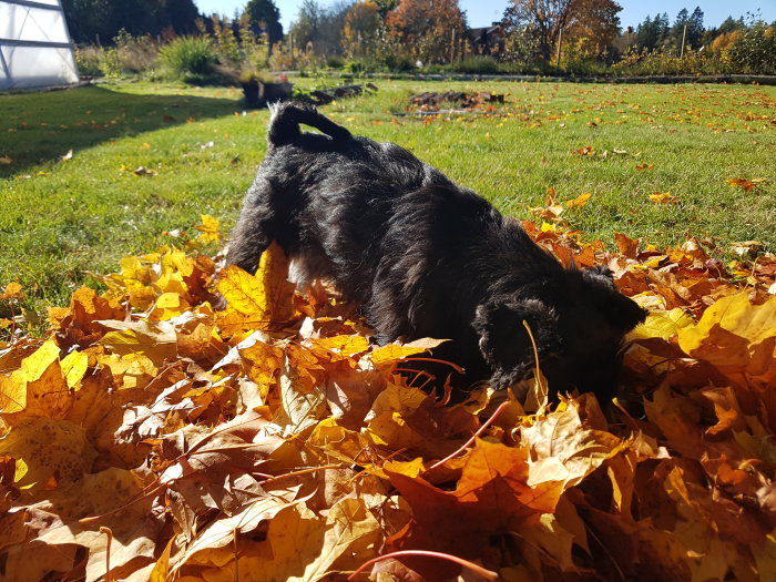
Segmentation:
{"type": "Polygon", "coordinates": [[[527,321],[553,392],[613,395],[623,337],[645,313],[609,269],[564,268],[474,192],[312,106],[278,105],[267,140],[228,263],[253,273],[275,239],[297,284],[331,280],[379,343],[451,339],[437,357],[496,388],[533,371],[527,321]]]}

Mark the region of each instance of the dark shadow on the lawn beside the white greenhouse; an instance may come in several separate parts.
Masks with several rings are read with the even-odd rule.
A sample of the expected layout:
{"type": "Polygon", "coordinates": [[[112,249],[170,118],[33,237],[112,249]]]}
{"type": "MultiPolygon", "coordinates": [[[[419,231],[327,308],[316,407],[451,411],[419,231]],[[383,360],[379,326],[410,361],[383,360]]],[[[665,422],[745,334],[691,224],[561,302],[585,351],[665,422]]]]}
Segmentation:
{"type": "Polygon", "coordinates": [[[186,94],[135,94],[89,85],[42,93],[0,95],[0,178],[57,161],[102,142],[242,111],[241,93],[225,99],[186,94]],[[229,99],[233,98],[233,99],[229,99]]]}

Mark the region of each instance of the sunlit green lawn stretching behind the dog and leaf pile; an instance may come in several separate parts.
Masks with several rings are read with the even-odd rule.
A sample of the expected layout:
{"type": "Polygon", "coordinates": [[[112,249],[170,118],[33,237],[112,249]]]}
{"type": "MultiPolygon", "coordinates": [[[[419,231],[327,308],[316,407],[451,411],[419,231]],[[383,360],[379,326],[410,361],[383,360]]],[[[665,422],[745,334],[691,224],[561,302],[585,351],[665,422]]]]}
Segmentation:
{"type": "MultiPolygon", "coordinates": [[[[747,239],[776,251],[776,88],[379,85],[324,111],[355,133],[410,149],[507,214],[529,217],[549,187],[560,201],[590,192],[566,217],[591,239],[611,244],[624,232],[671,245],[694,235],[714,239],[721,254],[747,239]],[[507,103],[491,113],[394,115],[408,112],[412,93],[447,90],[506,93],[507,103]],[[571,153],[586,145],[594,155],[571,153]],[[745,192],[725,182],[734,177],[768,182],[745,192]],[[678,202],[653,204],[656,191],[678,202]]],[[[243,113],[241,98],[235,89],[157,83],[0,95],[0,160],[10,159],[0,162],[0,285],[21,283],[27,307],[40,312],[122,256],[169,243],[166,231],[201,214],[228,232],[265,149],[267,112],[243,113]],[[137,176],[139,166],[156,175],[137,176]]]]}

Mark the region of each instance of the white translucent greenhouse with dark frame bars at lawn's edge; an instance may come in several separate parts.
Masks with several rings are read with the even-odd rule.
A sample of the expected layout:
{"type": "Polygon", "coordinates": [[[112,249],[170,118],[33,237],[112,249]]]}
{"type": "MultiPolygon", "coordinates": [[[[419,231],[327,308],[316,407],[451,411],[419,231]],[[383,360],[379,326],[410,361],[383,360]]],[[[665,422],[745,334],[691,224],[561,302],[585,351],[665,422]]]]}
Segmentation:
{"type": "Polygon", "coordinates": [[[0,91],[78,80],[60,0],[0,0],[0,91]]]}

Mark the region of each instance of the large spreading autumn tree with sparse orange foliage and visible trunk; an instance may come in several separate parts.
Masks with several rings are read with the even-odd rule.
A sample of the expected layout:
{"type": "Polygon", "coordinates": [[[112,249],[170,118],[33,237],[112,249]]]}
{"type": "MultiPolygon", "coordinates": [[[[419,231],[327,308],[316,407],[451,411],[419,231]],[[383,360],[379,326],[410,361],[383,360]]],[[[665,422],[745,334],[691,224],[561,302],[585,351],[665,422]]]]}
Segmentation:
{"type": "Polygon", "coordinates": [[[574,30],[594,34],[596,44],[611,42],[620,29],[620,10],[622,7],[613,0],[511,0],[504,24],[508,33],[533,37],[541,60],[550,62],[559,37],[574,30]]]}

